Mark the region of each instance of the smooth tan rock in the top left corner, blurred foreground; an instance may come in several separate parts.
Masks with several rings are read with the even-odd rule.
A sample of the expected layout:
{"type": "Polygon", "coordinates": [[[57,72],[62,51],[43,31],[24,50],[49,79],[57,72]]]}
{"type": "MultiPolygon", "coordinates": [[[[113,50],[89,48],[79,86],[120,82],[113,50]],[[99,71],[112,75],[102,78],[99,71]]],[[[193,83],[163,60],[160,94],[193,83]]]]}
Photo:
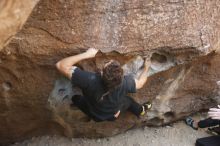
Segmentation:
{"type": "Polygon", "coordinates": [[[21,29],[39,0],[0,1],[0,50],[21,29]]]}

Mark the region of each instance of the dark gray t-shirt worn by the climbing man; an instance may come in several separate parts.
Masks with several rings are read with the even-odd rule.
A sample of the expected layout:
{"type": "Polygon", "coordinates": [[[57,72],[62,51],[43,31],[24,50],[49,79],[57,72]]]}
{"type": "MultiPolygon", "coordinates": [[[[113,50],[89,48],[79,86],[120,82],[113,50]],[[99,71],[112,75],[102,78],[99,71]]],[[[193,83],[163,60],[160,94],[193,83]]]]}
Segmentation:
{"type": "Polygon", "coordinates": [[[136,92],[132,76],[124,76],[122,84],[107,95],[105,93],[108,91],[101,76],[97,73],[76,68],[72,74],[71,82],[82,90],[91,114],[100,120],[112,118],[123,108],[124,104],[129,102],[126,94],[136,92]]]}

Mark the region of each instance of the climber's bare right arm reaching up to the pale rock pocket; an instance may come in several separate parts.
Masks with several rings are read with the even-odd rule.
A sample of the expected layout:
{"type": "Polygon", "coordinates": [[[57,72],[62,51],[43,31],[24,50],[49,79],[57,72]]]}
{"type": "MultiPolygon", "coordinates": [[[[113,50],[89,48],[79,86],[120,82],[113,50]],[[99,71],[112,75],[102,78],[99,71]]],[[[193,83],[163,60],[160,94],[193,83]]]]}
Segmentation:
{"type": "Polygon", "coordinates": [[[143,72],[141,73],[139,79],[135,79],[136,89],[141,89],[147,82],[147,72],[149,70],[149,67],[150,61],[145,60],[143,72]]]}

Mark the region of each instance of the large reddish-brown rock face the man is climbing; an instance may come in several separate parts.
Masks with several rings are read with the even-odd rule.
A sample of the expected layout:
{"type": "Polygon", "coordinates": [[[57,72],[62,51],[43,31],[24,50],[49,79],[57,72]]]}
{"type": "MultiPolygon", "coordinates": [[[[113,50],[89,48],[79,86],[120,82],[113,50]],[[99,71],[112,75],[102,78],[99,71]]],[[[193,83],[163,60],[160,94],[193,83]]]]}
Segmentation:
{"type": "MultiPolygon", "coordinates": [[[[219,102],[220,2],[186,0],[42,0],[0,52],[0,142],[44,134],[104,137],[142,125],[163,125],[219,102]],[[152,61],[145,87],[132,95],[152,101],[142,118],[121,114],[96,123],[70,106],[70,82],[56,71],[61,58],[102,51],[79,63],[97,71],[116,59],[138,77],[152,61]]],[[[78,90],[77,90],[78,92],[78,90]]]]}

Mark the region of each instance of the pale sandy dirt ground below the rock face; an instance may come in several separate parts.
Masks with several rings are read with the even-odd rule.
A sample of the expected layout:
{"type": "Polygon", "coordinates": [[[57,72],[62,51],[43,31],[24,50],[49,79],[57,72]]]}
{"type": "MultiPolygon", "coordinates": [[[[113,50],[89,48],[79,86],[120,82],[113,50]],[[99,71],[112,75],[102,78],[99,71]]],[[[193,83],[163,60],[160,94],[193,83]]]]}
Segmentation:
{"type": "MultiPolygon", "coordinates": [[[[201,116],[194,118],[202,119],[201,116]]],[[[204,118],[204,117],[203,117],[204,118]]],[[[33,137],[12,146],[194,146],[197,138],[211,135],[207,129],[193,130],[179,121],[164,127],[143,127],[103,139],[33,137]]]]}

